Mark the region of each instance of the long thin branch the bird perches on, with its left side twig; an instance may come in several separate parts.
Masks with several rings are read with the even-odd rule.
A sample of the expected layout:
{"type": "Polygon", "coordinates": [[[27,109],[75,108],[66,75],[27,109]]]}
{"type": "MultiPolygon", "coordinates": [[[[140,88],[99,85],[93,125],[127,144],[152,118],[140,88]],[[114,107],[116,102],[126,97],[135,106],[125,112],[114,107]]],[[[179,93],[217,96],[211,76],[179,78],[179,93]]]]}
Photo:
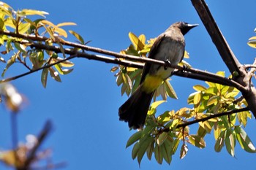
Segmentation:
{"type": "MultiPolygon", "coordinates": [[[[10,31],[0,31],[0,34],[6,34],[8,36],[14,36],[14,37],[17,37],[17,38],[28,39],[28,40],[22,40],[22,41],[15,40],[15,42],[18,42],[18,43],[23,44],[23,45],[30,46],[31,48],[35,47],[37,49],[50,50],[50,51],[54,51],[55,53],[62,53],[61,48],[58,47],[58,46],[43,45],[42,43],[31,42],[31,40],[32,41],[33,40],[37,40],[37,41],[46,40],[47,38],[43,37],[43,36],[15,34],[15,33],[12,33],[10,31]]],[[[92,55],[92,54],[88,54],[88,53],[84,53],[84,52],[79,52],[78,50],[70,50],[69,48],[64,48],[64,53],[71,55],[68,58],[64,58],[63,60],[58,61],[56,63],[51,63],[51,64],[48,64],[48,65],[42,66],[39,69],[34,69],[34,70],[29,71],[29,72],[19,74],[15,77],[10,77],[10,78],[4,79],[4,80],[0,80],[0,83],[16,80],[16,79],[18,79],[20,77],[24,77],[28,74],[38,72],[39,70],[49,68],[50,66],[54,66],[57,63],[61,63],[63,61],[71,60],[72,58],[87,58],[89,60],[92,59],[92,60],[97,60],[97,61],[104,61],[105,63],[116,63],[116,64],[120,64],[120,65],[123,65],[123,66],[135,67],[135,68],[140,68],[140,69],[143,68],[143,63],[147,63],[147,62],[148,63],[159,64],[161,66],[167,66],[168,65],[168,67],[172,67],[172,68],[175,68],[175,69],[178,69],[178,70],[182,71],[182,72],[176,72],[175,73],[178,76],[189,77],[189,78],[192,78],[192,79],[203,80],[203,81],[208,81],[208,82],[215,82],[215,83],[219,83],[219,84],[222,84],[222,85],[230,85],[230,86],[233,86],[235,88],[238,88],[238,90],[243,90],[242,89],[243,86],[239,85],[237,82],[235,82],[233,80],[227,79],[226,77],[221,77],[217,74],[201,71],[199,69],[184,68],[182,66],[173,66],[173,65],[169,65],[169,64],[165,63],[164,61],[158,61],[158,60],[154,60],[154,59],[151,59],[151,58],[142,58],[142,57],[133,56],[133,55],[123,55],[123,54],[111,52],[111,51],[108,51],[108,50],[102,50],[100,48],[88,47],[86,45],[79,45],[79,44],[72,43],[72,42],[65,42],[64,40],[61,40],[61,43],[63,43],[63,45],[69,45],[71,47],[79,47],[79,48],[82,48],[83,50],[91,50],[91,51],[94,51],[96,53],[103,53],[103,54],[112,55],[115,58],[110,58],[110,57],[103,56],[103,55],[92,55]],[[124,59],[127,59],[127,60],[120,60],[119,58],[124,58],[124,59]],[[138,61],[138,62],[132,62],[132,61],[138,61]]]]}

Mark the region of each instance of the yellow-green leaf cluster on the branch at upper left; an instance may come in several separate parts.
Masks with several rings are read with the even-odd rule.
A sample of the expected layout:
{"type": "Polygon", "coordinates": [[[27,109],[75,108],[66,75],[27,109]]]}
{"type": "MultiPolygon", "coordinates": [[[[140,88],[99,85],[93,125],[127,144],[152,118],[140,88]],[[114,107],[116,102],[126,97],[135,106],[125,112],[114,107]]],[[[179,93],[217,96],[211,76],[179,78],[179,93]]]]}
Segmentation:
{"type": "MultiPolygon", "coordinates": [[[[61,82],[60,75],[72,72],[74,63],[65,60],[66,54],[62,43],[64,42],[63,38],[67,38],[68,34],[62,27],[74,26],[76,25],[75,23],[67,22],[55,25],[49,20],[45,20],[45,15],[48,15],[48,12],[34,9],[15,11],[4,2],[1,2],[0,10],[0,31],[15,32],[16,35],[22,34],[20,38],[5,34],[0,35],[0,62],[6,63],[1,77],[4,77],[4,74],[14,63],[21,63],[31,72],[42,68],[41,81],[42,85],[46,87],[48,74],[50,74],[53,80],[61,82]],[[42,18],[31,20],[30,17],[33,15],[39,15],[42,18]],[[30,38],[26,39],[26,35],[29,35],[30,38]],[[34,37],[34,41],[31,41],[31,37],[34,37]],[[56,45],[59,47],[61,53],[33,48],[34,42],[39,45],[56,45]],[[7,59],[6,55],[10,53],[12,55],[7,59]]],[[[69,30],[69,33],[75,36],[80,44],[85,43],[83,37],[75,31],[69,30]]],[[[80,49],[74,47],[70,50],[78,51],[80,49]]]]}

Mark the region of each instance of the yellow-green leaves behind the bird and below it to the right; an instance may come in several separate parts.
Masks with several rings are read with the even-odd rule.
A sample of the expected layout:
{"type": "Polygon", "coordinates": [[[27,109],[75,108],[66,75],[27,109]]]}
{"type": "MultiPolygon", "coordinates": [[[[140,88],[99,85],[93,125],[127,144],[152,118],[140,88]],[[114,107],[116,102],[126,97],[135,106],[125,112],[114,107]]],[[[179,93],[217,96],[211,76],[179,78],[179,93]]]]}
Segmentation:
{"type": "MultiPolygon", "coordinates": [[[[144,35],[135,36],[129,33],[132,45],[121,53],[146,57],[154,39],[150,39],[147,44],[144,35]]],[[[187,53],[185,53],[187,55],[187,53]]],[[[189,65],[190,66],[190,65],[189,65]]],[[[121,95],[129,95],[140,82],[140,69],[125,66],[114,67],[112,71],[118,70],[116,83],[121,85],[121,95]]],[[[217,75],[225,77],[225,72],[217,72],[217,75]]],[[[155,93],[161,95],[164,101],[167,96],[176,98],[176,93],[171,86],[167,86],[169,81],[165,81],[155,93]]],[[[164,101],[156,101],[148,109],[146,125],[140,131],[135,132],[127,142],[127,147],[132,147],[132,158],[137,158],[140,164],[143,156],[151,160],[152,155],[157,163],[163,161],[171,163],[172,156],[179,148],[180,158],[184,158],[189,150],[189,144],[203,149],[206,147],[205,136],[214,132],[214,150],[220,152],[223,147],[227,152],[235,156],[236,143],[246,152],[256,152],[255,146],[244,131],[248,118],[252,118],[249,111],[238,112],[231,115],[221,115],[221,112],[228,112],[234,109],[247,107],[247,103],[236,88],[220,85],[214,82],[206,82],[204,85],[194,85],[195,93],[189,95],[187,102],[191,108],[184,107],[178,111],[165,111],[157,114],[157,107],[164,101]],[[212,115],[218,117],[211,118],[212,115]],[[208,118],[197,123],[196,133],[189,131],[186,123],[193,120],[208,118]]],[[[156,99],[156,98],[154,98],[156,99]]]]}

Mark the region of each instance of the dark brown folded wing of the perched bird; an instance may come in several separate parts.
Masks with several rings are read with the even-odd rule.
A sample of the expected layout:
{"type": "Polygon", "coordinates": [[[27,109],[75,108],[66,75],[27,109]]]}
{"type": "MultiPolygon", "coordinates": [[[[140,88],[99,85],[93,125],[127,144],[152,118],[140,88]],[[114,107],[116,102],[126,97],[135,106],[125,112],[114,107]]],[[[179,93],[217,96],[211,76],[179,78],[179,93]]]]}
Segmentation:
{"type": "MultiPolygon", "coordinates": [[[[155,59],[154,56],[157,54],[159,45],[162,42],[162,39],[164,37],[165,37],[165,34],[161,34],[157,37],[157,40],[154,42],[154,44],[151,47],[151,50],[148,54],[148,58],[155,59]]],[[[143,72],[141,75],[140,83],[142,83],[145,80],[146,74],[148,74],[148,72],[151,68],[151,65],[152,65],[151,63],[145,63],[145,66],[143,68],[143,72]]]]}

